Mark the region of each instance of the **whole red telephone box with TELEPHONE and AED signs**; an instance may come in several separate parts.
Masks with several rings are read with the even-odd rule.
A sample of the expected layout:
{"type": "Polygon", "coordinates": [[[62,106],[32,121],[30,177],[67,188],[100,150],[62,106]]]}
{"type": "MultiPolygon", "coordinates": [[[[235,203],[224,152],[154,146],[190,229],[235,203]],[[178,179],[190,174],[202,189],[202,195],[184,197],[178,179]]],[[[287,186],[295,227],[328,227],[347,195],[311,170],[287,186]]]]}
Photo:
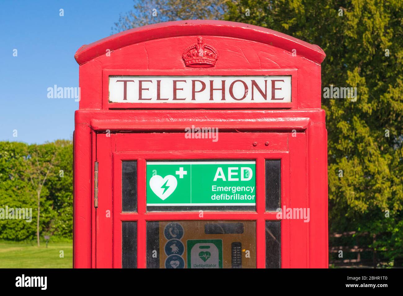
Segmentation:
{"type": "Polygon", "coordinates": [[[327,267],[324,58],[226,21],[82,46],[74,267],[327,267]]]}

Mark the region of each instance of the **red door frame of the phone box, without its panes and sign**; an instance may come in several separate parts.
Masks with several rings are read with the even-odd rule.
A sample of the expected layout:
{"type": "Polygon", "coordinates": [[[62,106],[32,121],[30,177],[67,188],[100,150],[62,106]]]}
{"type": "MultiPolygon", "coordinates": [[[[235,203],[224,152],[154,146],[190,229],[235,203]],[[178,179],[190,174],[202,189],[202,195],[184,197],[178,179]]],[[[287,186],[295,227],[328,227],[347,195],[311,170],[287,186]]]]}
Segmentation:
{"type": "MultiPolygon", "coordinates": [[[[161,221],[161,225],[168,225],[169,221],[205,221],[203,225],[206,229],[213,229],[214,227],[212,227],[211,224],[215,222],[215,224],[221,225],[220,223],[225,222],[228,224],[228,222],[233,221],[232,224],[229,224],[237,225],[236,223],[239,223],[239,221],[254,221],[254,223],[256,223],[256,230],[253,228],[253,232],[256,231],[256,235],[253,236],[253,240],[256,239],[256,242],[253,241],[253,246],[250,247],[252,250],[249,250],[253,252],[252,256],[250,256],[250,258],[253,258],[253,264],[247,265],[247,267],[256,266],[258,268],[265,268],[266,257],[270,259],[272,255],[272,253],[270,253],[272,252],[272,245],[268,246],[268,251],[270,252],[266,253],[266,238],[267,236],[270,238],[270,235],[273,236],[272,233],[274,232],[267,227],[266,221],[280,221],[281,234],[278,240],[280,244],[279,266],[282,268],[308,267],[309,245],[307,238],[309,229],[306,226],[307,223],[304,223],[302,219],[279,219],[276,211],[266,211],[265,203],[265,162],[269,159],[279,159],[281,164],[281,208],[309,207],[306,195],[305,142],[305,133],[302,132],[220,132],[218,134],[218,141],[213,141],[211,138],[185,138],[184,133],[176,132],[98,134],[97,161],[99,163],[99,201],[96,210],[96,267],[133,267],[134,265],[130,265],[133,264],[133,260],[135,260],[135,267],[137,268],[145,268],[147,265],[150,267],[150,257],[148,257],[149,260],[147,261],[147,256],[151,256],[150,252],[152,252],[152,250],[150,250],[150,248],[147,250],[147,227],[152,225],[152,223],[149,223],[147,226],[147,221],[161,221]],[[205,210],[203,217],[199,216],[198,209],[195,211],[147,212],[146,162],[152,160],[256,161],[256,210],[205,210]],[[123,161],[135,161],[136,164],[136,211],[122,211],[123,161]],[[112,174],[110,172],[112,172],[112,174]],[[135,235],[133,236],[134,231],[135,235]],[[128,239],[129,243],[127,243],[128,239]],[[135,240],[135,244],[131,244],[131,240],[135,240]],[[291,245],[298,246],[298,248],[291,248],[291,245]],[[135,257],[132,256],[133,253],[136,253],[135,257]],[[125,260],[123,260],[122,254],[125,260]]],[[[185,228],[187,225],[192,225],[192,223],[189,224],[187,222],[183,224],[185,228]]],[[[163,238],[165,243],[166,236],[165,238],[162,236],[164,227],[161,226],[159,229],[161,232],[160,237],[163,238]]],[[[234,239],[237,237],[236,234],[231,235],[233,235],[234,239]]],[[[217,241],[217,238],[219,238],[219,236],[214,233],[212,233],[211,237],[214,237],[214,241],[217,241]]],[[[194,247],[198,247],[196,243],[194,247]]],[[[161,248],[156,252],[158,253],[156,255],[157,257],[164,255],[161,248]]],[[[236,249],[237,244],[232,244],[231,250],[235,255],[237,254],[236,249]]],[[[212,250],[217,254],[220,253],[220,250],[218,250],[215,245],[212,245],[212,250]]],[[[199,251],[198,254],[209,254],[203,250],[199,251]]],[[[241,251],[244,252],[243,250],[241,251]]],[[[216,256],[214,252],[210,252],[212,259],[216,256]]],[[[230,258],[227,254],[228,252],[228,249],[224,250],[222,258],[230,258]]],[[[154,255],[156,253],[154,253],[154,255]]],[[[233,267],[236,266],[234,263],[236,256],[234,254],[233,257],[231,257],[233,267]]],[[[245,254],[242,253],[242,256],[244,255],[245,254]]],[[[186,257],[186,254],[183,256],[186,257]]],[[[202,260],[206,258],[212,260],[209,259],[209,255],[203,256],[200,257],[202,260]]],[[[244,264],[250,262],[247,261],[249,259],[246,257],[242,259],[244,259],[244,264]]],[[[160,260],[163,259],[161,258],[160,260]]],[[[179,266],[177,265],[179,263],[176,263],[178,262],[177,260],[171,261],[172,266],[179,266]]],[[[187,259],[184,258],[184,261],[187,262],[187,259]]],[[[160,267],[164,265],[161,262],[162,261],[160,261],[160,267]]],[[[185,267],[186,262],[184,262],[185,267]]],[[[229,263],[226,263],[228,267],[229,263]]],[[[271,265],[269,265],[269,267],[270,266],[271,265]]]]}

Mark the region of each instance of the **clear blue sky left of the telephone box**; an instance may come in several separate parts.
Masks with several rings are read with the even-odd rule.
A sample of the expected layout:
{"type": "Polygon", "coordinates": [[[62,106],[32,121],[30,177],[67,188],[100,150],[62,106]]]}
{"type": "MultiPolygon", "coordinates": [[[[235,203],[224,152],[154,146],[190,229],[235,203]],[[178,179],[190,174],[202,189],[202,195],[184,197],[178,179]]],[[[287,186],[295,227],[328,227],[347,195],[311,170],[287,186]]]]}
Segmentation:
{"type": "Polygon", "coordinates": [[[132,8],[132,0],[0,1],[0,141],[72,138],[78,102],[49,99],[47,89],[78,87],[77,49],[111,35],[132,8]]]}

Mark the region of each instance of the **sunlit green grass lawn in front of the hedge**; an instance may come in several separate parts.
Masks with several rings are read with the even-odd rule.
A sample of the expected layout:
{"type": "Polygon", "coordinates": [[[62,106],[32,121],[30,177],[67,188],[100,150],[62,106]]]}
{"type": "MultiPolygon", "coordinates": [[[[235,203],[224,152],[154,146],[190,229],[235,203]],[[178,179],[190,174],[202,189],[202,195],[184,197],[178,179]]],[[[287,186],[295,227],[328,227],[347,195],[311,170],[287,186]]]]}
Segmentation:
{"type": "Polygon", "coordinates": [[[73,242],[35,244],[0,241],[0,268],[73,268],[73,242]],[[60,258],[60,250],[64,257],[60,258]]]}

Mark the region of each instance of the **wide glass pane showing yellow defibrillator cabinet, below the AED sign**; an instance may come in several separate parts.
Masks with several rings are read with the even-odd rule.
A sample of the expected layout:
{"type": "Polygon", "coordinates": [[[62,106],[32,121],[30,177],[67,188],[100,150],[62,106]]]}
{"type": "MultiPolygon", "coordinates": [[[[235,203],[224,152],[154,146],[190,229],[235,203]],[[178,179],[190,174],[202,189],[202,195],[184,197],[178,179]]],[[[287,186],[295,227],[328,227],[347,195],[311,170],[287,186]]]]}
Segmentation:
{"type": "Polygon", "coordinates": [[[255,268],[256,221],[148,221],[147,268],[255,268]]]}

